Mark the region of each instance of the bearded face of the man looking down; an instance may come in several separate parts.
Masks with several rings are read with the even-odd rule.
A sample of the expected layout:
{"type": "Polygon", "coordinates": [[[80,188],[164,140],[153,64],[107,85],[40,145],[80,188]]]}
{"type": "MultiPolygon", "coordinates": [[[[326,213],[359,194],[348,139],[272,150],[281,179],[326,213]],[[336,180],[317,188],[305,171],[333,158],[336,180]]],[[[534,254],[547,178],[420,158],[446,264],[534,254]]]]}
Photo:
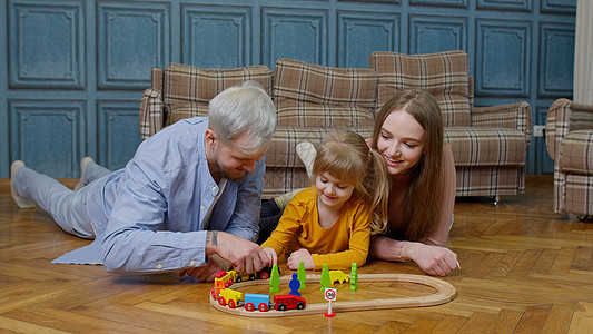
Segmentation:
{"type": "MultiPolygon", "coordinates": [[[[248,140],[243,137],[244,136],[239,136],[229,144],[223,144],[220,140],[218,140],[218,138],[214,138],[211,140],[208,139],[207,134],[206,145],[211,147],[213,153],[211,159],[210,157],[208,158],[210,173],[214,171],[215,174],[218,174],[218,176],[231,181],[240,181],[247,175],[247,173],[254,171],[255,164],[264,158],[268,146],[266,145],[266,147],[264,147],[259,153],[246,154],[241,151],[237,145],[235,145],[235,143],[244,143],[244,140],[248,140]],[[213,170],[211,167],[214,167],[215,170],[213,170]]],[[[213,176],[216,178],[217,175],[213,176]]]]}

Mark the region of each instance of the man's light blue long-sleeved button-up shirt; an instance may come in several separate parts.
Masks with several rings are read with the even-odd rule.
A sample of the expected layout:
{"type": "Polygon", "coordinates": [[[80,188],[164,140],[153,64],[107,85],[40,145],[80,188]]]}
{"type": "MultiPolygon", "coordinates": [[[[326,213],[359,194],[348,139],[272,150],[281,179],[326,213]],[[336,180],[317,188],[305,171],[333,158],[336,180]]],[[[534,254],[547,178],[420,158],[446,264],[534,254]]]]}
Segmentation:
{"type": "MultiPolygon", "coordinates": [[[[180,120],[146,139],[125,169],[87,186],[97,189],[86,200],[97,238],[56,262],[103,263],[109,272],[205,265],[204,218],[219,193],[206,159],[207,127],[204,117],[180,120]],[[91,258],[99,248],[99,259],[91,258]]],[[[241,181],[227,181],[209,230],[257,238],[264,173],[261,159],[241,181]]]]}

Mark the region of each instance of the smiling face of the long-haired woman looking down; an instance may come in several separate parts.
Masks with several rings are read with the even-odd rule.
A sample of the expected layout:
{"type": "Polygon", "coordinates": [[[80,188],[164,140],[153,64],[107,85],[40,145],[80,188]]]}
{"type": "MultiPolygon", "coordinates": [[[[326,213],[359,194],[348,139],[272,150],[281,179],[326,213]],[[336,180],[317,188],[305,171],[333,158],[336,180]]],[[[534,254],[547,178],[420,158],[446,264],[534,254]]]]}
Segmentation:
{"type": "Polygon", "coordinates": [[[409,170],[424,153],[424,128],[404,110],[395,110],[385,118],[377,148],[385,157],[391,175],[409,170]]]}

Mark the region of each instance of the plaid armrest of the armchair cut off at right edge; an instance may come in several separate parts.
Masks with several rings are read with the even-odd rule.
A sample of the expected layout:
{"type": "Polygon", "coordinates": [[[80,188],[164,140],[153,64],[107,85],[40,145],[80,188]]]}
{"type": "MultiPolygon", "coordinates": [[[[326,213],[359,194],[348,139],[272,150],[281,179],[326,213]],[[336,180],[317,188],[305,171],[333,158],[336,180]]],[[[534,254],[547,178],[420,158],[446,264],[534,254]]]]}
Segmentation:
{"type": "Polygon", "coordinates": [[[575,104],[569,99],[555,100],[547,110],[545,141],[547,154],[553,160],[562,139],[573,130],[593,129],[593,106],[575,104]]]}

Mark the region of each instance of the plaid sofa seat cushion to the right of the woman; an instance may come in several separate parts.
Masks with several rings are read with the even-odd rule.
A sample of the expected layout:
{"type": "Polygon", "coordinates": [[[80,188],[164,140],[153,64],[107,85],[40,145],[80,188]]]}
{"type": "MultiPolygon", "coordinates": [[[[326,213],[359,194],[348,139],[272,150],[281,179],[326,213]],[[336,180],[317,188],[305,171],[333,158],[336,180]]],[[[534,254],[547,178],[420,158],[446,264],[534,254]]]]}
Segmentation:
{"type": "Polygon", "coordinates": [[[447,127],[455,166],[524,166],[525,134],[507,128],[447,127]]]}

